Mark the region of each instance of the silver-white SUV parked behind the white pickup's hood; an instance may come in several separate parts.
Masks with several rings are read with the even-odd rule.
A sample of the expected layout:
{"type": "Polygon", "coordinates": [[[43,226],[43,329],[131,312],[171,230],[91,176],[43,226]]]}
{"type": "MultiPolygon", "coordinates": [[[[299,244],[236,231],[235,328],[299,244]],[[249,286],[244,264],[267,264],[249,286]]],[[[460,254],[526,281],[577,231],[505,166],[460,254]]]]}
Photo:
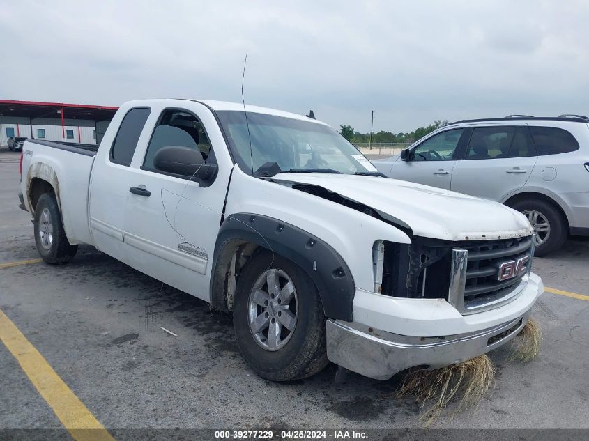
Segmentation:
{"type": "Polygon", "coordinates": [[[589,118],[458,121],[374,166],[409,180],[505,203],[528,216],[536,256],[589,235],[589,118]]]}

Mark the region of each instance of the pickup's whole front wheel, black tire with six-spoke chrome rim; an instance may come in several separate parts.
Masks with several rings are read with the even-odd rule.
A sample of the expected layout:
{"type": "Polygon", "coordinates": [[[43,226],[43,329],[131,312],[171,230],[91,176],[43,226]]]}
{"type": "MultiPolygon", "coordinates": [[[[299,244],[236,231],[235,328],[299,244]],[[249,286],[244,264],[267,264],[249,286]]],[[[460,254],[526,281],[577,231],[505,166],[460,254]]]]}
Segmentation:
{"type": "Polygon", "coordinates": [[[298,265],[277,254],[254,254],[240,274],[234,328],[243,358],[268,380],[306,378],[328,364],[319,293],[298,265]]]}

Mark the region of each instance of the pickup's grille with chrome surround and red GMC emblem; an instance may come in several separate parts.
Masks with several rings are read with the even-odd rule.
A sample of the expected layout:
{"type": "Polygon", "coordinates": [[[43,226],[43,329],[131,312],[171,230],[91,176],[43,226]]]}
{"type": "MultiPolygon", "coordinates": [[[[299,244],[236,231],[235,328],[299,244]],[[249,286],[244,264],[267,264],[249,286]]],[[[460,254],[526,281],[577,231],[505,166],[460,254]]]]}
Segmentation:
{"type": "Polygon", "coordinates": [[[452,249],[448,301],[462,314],[497,307],[528,282],[535,238],[470,242],[452,249]]]}

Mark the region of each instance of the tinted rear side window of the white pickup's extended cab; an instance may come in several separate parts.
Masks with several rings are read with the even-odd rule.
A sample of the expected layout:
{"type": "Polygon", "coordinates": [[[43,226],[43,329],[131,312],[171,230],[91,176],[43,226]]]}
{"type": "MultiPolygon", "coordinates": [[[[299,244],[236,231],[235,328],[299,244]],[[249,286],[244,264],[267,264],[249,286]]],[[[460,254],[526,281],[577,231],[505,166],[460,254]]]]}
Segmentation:
{"type": "Polygon", "coordinates": [[[151,109],[148,107],[136,107],[127,112],[121,122],[121,127],[118,127],[110,150],[111,162],[121,165],[131,164],[137,141],[139,141],[150,111],[151,109]]]}

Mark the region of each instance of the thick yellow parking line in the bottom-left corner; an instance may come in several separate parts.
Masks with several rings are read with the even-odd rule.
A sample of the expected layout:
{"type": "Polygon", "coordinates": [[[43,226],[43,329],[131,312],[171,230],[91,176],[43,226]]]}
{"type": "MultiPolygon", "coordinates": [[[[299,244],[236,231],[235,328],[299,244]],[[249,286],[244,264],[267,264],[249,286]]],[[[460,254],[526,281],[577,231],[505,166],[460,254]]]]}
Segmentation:
{"type": "Polygon", "coordinates": [[[10,350],[29,380],[76,441],[114,441],[47,360],[0,311],[0,341],[10,350]],[[90,430],[89,430],[90,429],[90,430]]]}

